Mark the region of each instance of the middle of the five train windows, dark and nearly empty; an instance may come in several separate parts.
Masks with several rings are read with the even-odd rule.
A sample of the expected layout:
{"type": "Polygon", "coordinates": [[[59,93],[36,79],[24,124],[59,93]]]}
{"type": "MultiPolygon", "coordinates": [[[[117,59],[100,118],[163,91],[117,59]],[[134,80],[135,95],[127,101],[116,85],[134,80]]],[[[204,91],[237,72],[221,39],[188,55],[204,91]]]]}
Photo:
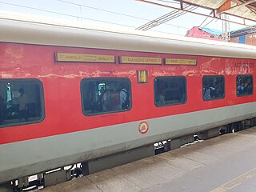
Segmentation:
{"type": "Polygon", "coordinates": [[[185,77],[158,77],[154,79],[155,106],[172,106],[185,102],[185,77]]]}

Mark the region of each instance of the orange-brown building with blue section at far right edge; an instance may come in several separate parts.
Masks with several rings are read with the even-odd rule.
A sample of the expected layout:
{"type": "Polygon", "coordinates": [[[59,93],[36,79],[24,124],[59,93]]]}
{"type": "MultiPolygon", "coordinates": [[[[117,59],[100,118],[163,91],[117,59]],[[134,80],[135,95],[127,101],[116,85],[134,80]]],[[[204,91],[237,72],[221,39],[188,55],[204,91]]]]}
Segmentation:
{"type": "Polygon", "coordinates": [[[256,46],[256,29],[245,27],[240,30],[233,30],[230,32],[230,42],[256,46]]]}

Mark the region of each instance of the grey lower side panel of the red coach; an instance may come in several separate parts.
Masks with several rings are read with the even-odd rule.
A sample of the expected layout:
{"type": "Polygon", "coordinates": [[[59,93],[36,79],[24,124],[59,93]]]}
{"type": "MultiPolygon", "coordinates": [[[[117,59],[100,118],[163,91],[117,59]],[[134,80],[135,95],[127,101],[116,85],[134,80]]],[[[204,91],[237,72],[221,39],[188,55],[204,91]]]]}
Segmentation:
{"type": "Polygon", "coordinates": [[[256,116],[256,102],[106,126],[0,146],[0,183],[256,116]]]}

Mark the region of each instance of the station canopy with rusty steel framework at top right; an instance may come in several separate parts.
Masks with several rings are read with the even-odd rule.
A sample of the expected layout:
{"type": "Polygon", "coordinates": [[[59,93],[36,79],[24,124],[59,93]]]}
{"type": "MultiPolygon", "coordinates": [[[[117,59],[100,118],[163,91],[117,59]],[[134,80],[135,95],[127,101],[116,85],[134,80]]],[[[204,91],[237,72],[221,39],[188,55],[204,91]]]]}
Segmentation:
{"type": "Polygon", "coordinates": [[[137,0],[157,6],[165,6],[182,12],[199,14],[208,18],[218,18],[226,22],[234,22],[243,26],[250,26],[250,22],[256,22],[256,0],[137,0]],[[210,14],[194,11],[194,7],[210,10],[210,14]],[[242,18],[239,21],[231,21],[223,15],[242,18]]]}

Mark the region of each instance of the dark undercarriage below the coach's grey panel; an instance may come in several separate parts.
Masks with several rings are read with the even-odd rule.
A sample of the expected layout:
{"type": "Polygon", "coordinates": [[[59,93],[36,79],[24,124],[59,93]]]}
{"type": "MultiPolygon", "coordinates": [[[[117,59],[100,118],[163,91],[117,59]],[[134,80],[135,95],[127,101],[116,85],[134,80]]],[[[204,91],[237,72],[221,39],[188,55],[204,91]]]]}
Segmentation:
{"type": "Polygon", "coordinates": [[[67,182],[74,178],[94,174],[114,166],[121,166],[138,159],[153,156],[154,154],[161,154],[179,147],[191,145],[195,142],[202,142],[205,139],[214,138],[221,134],[229,134],[240,130],[246,130],[253,126],[256,126],[256,118],[240,122],[232,122],[226,126],[216,127],[179,138],[170,138],[166,141],[141,146],[132,150],[126,150],[122,153],[111,154],[110,156],[92,159],[86,162],[78,162],[71,166],[59,167],[55,170],[49,170],[32,176],[18,178],[10,183],[0,184],[0,192],[34,191],[48,186],[54,186],[58,183],[67,182]]]}

